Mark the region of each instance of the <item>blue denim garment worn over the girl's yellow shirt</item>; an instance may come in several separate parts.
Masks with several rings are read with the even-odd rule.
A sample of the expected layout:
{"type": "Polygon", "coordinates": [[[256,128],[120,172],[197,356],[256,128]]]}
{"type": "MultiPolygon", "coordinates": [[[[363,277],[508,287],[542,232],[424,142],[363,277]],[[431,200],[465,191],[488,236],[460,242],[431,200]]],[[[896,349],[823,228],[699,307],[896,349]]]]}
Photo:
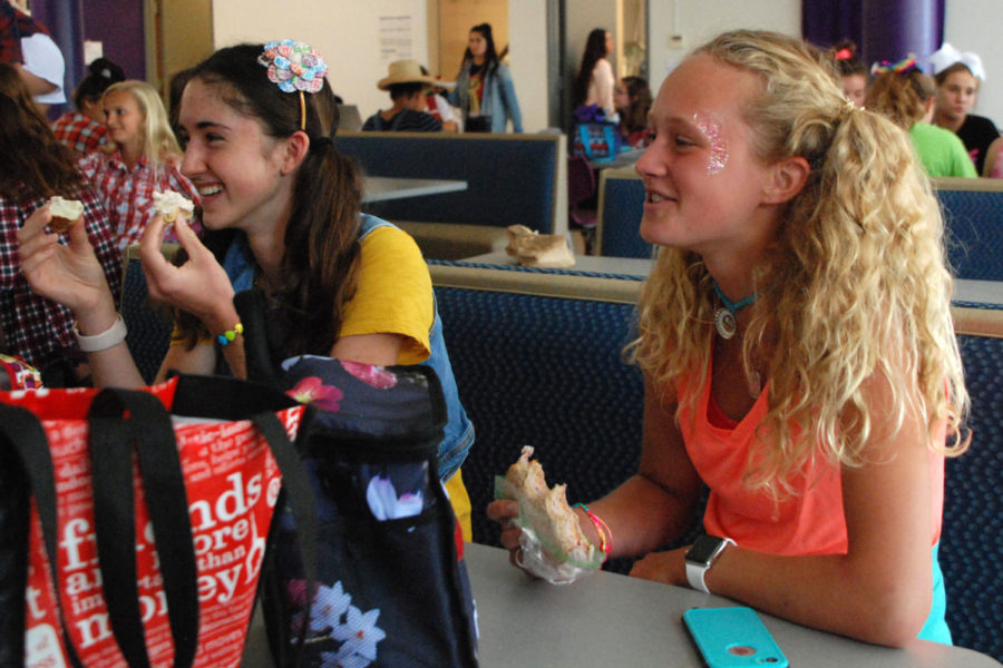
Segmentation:
{"type": "MultiPolygon", "coordinates": [[[[361,214],[359,240],[366,238],[373,229],[384,226],[395,227],[386,220],[361,214]]],[[[223,259],[223,268],[230,276],[234,292],[251,289],[254,284],[255,266],[246,237],[238,235],[223,259]]],[[[222,358],[222,355],[220,357],[222,358]]],[[[467,459],[470,446],[474,445],[474,424],[467,418],[467,412],[459,400],[456,379],[452,375],[452,366],[449,363],[449,354],[446,352],[446,342],[442,338],[442,321],[439,318],[437,307],[431,330],[429,330],[429,356],[422,364],[430,366],[436,372],[446,399],[448,420],[442,432],[442,441],[439,443],[439,480],[446,482],[460,468],[460,464],[467,459]]]]}

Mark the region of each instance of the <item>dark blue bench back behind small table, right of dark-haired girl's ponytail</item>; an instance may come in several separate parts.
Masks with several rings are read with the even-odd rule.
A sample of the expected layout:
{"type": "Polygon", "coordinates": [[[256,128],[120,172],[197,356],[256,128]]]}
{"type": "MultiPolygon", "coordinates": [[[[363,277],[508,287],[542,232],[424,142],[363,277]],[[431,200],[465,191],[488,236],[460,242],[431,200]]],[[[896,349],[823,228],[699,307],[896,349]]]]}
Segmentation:
{"type": "Polygon", "coordinates": [[[367,206],[411,233],[426,257],[498,250],[513,224],[567,233],[563,135],[339,132],[334,146],[369,175],[467,181],[466,190],[367,206]]]}

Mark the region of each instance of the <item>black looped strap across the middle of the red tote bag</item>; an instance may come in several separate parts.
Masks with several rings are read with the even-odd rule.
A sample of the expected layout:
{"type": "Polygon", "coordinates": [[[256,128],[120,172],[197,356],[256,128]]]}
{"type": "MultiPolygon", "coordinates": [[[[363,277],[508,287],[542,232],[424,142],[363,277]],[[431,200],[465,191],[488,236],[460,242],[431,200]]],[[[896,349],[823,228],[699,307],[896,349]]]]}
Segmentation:
{"type": "Polygon", "coordinates": [[[107,389],[94,399],[87,418],[98,560],[115,639],[129,666],[149,666],[135,541],[121,537],[125,530],[132,538],[136,525],[135,446],[167,599],[174,666],[187,668],[194,661],[198,638],[198,586],[185,480],[171,416],[148,392],[107,389]]]}

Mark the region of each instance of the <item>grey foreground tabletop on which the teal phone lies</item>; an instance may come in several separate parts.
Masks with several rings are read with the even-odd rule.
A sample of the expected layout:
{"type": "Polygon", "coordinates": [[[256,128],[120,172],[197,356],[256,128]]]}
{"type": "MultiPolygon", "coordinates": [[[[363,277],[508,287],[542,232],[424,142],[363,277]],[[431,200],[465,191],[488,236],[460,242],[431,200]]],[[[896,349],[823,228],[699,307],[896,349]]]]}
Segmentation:
{"type": "MultiPolygon", "coordinates": [[[[572,584],[533,580],[487,546],[465,546],[477,601],[481,668],[698,667],[682,623],[694,607],[734,601],[692,589],[598,572],[572,584]]],[[[905,649],[867,645],[759,613],[796,668],[1000,666],[985,655],[925,640],[905,649]]]]}

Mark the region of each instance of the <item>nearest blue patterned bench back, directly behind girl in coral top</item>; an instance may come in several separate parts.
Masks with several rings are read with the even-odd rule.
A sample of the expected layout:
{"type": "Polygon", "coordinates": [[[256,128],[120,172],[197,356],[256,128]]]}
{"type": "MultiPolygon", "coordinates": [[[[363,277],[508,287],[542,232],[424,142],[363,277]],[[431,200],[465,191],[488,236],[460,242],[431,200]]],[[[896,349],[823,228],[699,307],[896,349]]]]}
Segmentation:
{"type": "MultiPolygon", "coordinates": [[[[536,448],[548,482],[568,483],[572,502],[596,499],[633,474],[643,389],[621,352],[640,281],[458,263],[429,268],[460,399],[477,430],[464,464],[475,541],[498,544],[484,508],[494,477],[523,445],[536,448]]],[[[957,645],[1003,659],[1003,305],[953,311],[974,438],[946,469],[939,558],[947,620],[957,645]]],[[[699,530],[697,517],[676,544],[699,530]]]]}

